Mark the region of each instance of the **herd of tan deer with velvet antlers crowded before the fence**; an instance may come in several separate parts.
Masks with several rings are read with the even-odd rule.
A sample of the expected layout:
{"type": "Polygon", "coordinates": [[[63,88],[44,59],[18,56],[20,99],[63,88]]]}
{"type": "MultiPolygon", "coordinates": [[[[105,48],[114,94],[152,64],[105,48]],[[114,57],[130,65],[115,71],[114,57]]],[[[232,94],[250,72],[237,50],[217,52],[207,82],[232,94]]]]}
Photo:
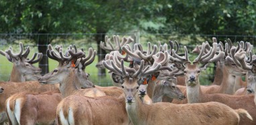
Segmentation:
{"type": "Polygon", "coordinates": [[[256,124],[256,55],[249,42],[236,46],[213,37],[191,52],[186,46],[180,52],[177,41],[147,43],[145,50],[132,42],[118,35],[101,42],[109,53],[97,68],[107,68],[109,87],[89,80],[92,48],[86,55],[75,45],[49,44],[46,54],[59,64],[44,76],[33,66],[42,53],[29,59],[23,43],[19,53],[0,50],[13,63],[9,81],[0,82],[0,124],[256,124]],[[211,63],[214,81],[201,86],[200,74],[211,63]]]}

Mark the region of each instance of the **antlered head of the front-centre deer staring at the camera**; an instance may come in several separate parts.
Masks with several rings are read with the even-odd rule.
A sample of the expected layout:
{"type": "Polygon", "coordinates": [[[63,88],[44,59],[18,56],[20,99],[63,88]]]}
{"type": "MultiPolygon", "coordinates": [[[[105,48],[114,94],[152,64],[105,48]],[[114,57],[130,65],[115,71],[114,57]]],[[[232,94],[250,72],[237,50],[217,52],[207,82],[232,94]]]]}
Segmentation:
{"type": "Polygon", "coordinates": [[[111,70],[111,72],[123,77],[124,82],[122,88],[125,93],[127,103],[135,102],[134,97],[139,90],[139,84],[137,84],[139,78],[157,72],[161,68],[162,64],[165,64],[168,61],[168,52],[159,52],[158,56],[153,55],[152,57],[154,59],[152,66],[144,68],[145,61],[142,59],[139,69],[135,70],[134,68],[125,67],[123,59],[119,62],[117,57],[113,57],[113,55],[109,54],[106,55],[106,61],[103,61],[103,66],[108,70],[111,70]]]}

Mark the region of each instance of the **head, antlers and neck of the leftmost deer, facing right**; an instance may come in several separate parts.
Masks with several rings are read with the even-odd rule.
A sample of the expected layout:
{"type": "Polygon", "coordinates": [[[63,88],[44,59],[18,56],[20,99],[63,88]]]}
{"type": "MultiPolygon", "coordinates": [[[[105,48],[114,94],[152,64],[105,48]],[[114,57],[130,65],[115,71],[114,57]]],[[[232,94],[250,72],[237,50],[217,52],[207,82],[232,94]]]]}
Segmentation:
{"type": "Polygon", "coordinates": [[[30,51],[29,47],[26,47],[25,52],[23,53],[23,44],[19,43],[19,49],[19,53],[13,53],[12,47],[9,47],[5,52],[0,50],[0,54],[7,57],[7,59],[13,63],[9,82],[38,80],[42,70],[40,68],[36,68],[32,64],[35,64],[42,59],[42,53],[34,53],[33,57],[28,59],[27,55],[30,51]],[[36,59],[36,55],[38,55],[38,59],[36,59]]]}

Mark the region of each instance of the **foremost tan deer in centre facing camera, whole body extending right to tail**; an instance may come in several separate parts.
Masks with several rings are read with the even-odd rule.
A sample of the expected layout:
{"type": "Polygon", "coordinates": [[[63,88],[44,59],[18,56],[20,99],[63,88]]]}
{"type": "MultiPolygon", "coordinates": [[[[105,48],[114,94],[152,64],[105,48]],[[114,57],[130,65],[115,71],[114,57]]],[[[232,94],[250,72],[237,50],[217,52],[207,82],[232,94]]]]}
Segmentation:
{"type": "MultiPolygon", "coordinates": [[[[239,115],[249,114],[242,109],[233,110],[224,104],[218,102],[209,102],[206,104],[186,104],[177,105],[171,103],[155,103],[151,105],[143,104],[139,97],[139,85],[137,80],[139,76],[145,76],[145,73],[152,70],[142,70],[144,61],[141,61],[141,69],[134,74],[129,73],[126,68],[117,71],[114,63],[111,66],[103,64],[108,70],[123,76],[123,91],[125,93],[126,110],[133,124],[238,124],[239,115]],[[189,114],[189,115],[184,115],[189,114]]],[[[153,64],[153,72],[157,72],[161,64],[157,61],[153,64]]]]}

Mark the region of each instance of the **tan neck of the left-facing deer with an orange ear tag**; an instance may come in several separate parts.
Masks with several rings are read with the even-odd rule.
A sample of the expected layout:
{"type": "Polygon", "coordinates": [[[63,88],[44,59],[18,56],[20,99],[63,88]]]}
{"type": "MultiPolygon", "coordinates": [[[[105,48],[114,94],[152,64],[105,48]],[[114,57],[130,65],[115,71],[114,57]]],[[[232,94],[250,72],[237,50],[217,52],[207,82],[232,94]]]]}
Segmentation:
{"type": "Polygon", "coordinates": [[[70,72],[68,77],[64,78],[62,83],[60,83],[60,93],[62,94],[63,98],[75,94],[80,90],[81,86],[76,74],[74,72],[70,72]]]}

